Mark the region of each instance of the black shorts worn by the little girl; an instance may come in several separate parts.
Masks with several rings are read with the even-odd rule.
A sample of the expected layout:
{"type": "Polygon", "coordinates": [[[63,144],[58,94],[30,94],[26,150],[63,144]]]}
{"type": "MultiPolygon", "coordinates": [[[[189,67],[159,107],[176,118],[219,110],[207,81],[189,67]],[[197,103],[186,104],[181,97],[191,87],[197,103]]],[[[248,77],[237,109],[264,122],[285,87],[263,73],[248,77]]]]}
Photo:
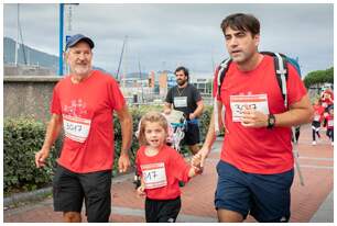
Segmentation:
{"type": "Polygon", "coordinates": [[[175,223],[181,207],[181,196],[174,200],[151,200],[146,197],[146,223],[175,223]]]}

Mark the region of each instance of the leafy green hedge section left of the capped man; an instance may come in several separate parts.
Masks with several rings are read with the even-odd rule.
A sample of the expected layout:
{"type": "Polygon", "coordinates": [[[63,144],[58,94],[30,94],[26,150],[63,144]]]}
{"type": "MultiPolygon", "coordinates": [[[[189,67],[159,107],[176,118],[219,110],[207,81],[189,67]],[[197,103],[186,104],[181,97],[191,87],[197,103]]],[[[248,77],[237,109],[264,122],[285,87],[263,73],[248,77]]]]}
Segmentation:
{"type": "Polygon", "coordinates": [[[3,128],[3,189],[31,191],[51,182],[55,148],[47,167],[36,169],[35,152],[42,147],[45,125],[33,118],[6,118],[3,128]]]}

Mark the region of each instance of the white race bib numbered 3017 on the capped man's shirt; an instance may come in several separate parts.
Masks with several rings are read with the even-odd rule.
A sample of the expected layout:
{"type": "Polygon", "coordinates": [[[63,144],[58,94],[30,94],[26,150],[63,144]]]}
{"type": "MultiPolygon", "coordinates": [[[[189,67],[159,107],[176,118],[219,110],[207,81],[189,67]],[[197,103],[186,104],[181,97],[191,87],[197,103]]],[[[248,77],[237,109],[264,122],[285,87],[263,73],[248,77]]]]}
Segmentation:
{"type": "Polygon", "coordinates": [[[74,142],[84,143],[90,131],[90,120],[63,115],[63,126],[65,136],[74,142]]]}

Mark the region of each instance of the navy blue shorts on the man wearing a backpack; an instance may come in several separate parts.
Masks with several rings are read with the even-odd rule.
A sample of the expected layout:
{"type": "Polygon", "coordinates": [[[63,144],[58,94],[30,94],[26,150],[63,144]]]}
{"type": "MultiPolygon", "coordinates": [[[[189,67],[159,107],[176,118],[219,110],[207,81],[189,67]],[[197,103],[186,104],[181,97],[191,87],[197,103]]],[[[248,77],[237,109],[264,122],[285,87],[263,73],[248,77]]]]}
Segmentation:
{"type": "Polygon", "coordinates": [[[276,174],[247,173],[220,160],[217,172],[216,210],[235,211],[243,218],[250,214],[258,222],[289,222],[294,169],[276,174]]]}

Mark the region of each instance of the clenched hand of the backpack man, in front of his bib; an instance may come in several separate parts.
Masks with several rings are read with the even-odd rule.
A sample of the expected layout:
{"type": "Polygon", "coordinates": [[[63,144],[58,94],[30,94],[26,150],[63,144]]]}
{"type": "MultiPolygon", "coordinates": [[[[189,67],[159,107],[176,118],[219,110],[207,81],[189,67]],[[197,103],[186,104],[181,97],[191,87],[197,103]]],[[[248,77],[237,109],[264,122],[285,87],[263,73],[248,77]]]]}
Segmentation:
{"type": "Polygon", "coordinates": [[[256,110],[244,110],[241,117],[241,125],[254,128],[267,127],[268,115],[256,110]]]}

